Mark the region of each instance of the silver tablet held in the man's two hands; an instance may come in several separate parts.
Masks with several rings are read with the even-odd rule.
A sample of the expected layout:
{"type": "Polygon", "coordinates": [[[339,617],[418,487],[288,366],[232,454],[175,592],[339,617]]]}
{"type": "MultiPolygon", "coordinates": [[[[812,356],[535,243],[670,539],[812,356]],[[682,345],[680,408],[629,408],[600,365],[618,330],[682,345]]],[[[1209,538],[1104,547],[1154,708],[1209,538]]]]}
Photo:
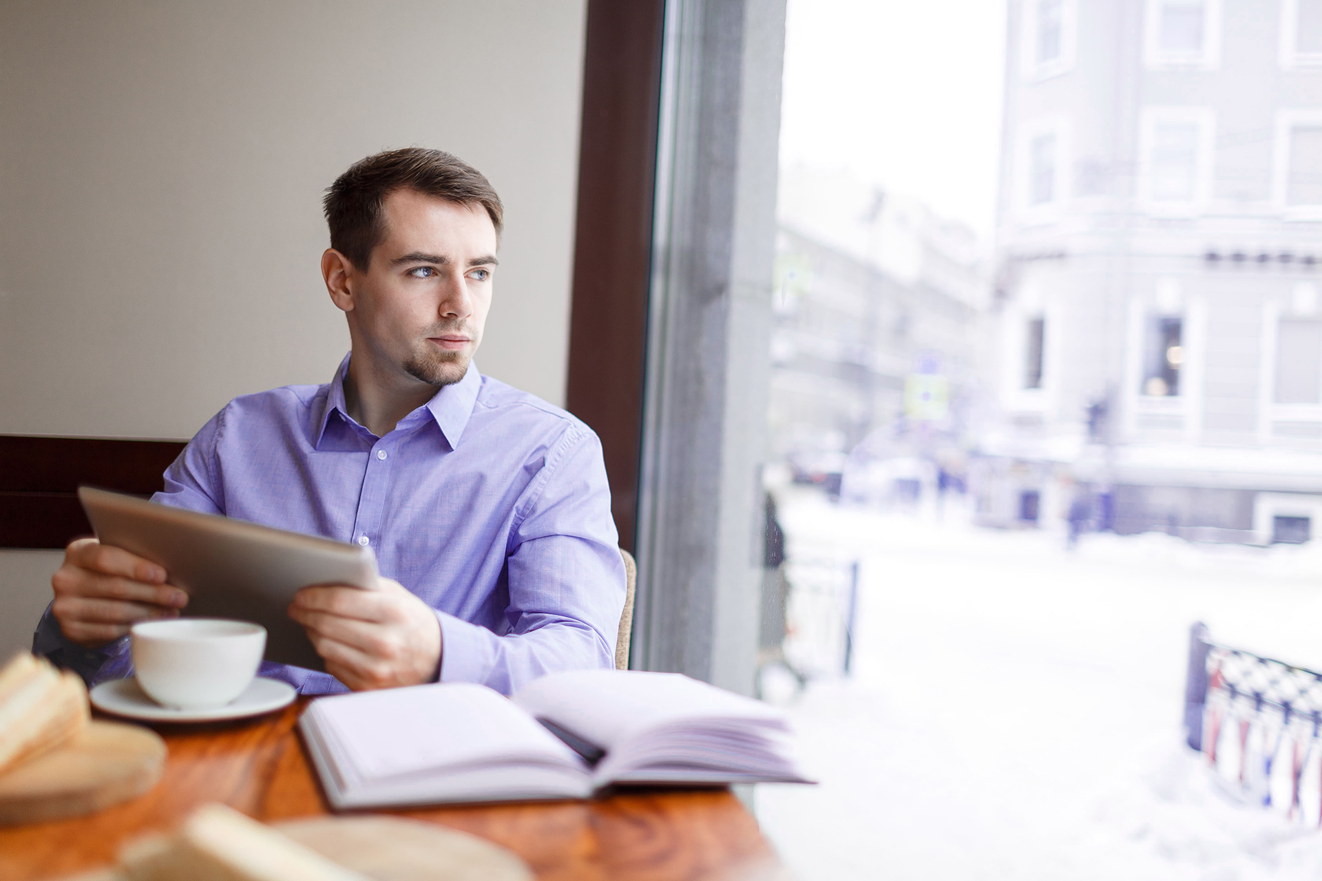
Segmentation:
{"type": "Polygon", "coordinates": [[[293,594],[313,584],[375,582],[371,548],[89,486],[78,487],[78,498],[102,543],[159,563],[167,580],[189,594],[182,614],[266,627],[267,660],[324,671],[303,625],[286,614],[293,594]]]}

